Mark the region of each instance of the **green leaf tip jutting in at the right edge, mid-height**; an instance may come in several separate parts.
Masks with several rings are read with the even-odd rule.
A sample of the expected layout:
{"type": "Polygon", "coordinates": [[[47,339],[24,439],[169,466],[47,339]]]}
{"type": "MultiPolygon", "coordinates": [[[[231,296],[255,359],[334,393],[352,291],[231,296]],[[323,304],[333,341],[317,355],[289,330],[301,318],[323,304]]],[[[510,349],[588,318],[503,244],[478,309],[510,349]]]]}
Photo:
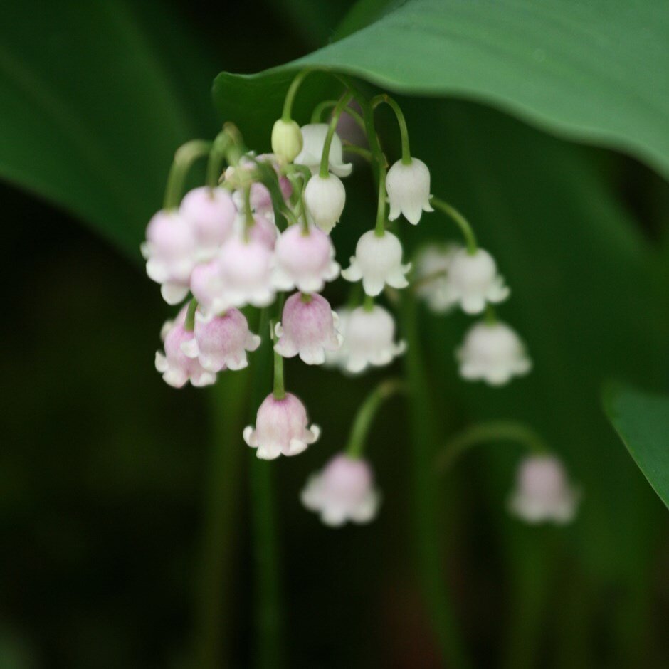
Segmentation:
{"type": "Polygon", "coordinates": [[[604,411],[653,490],[669,507],[669,397],[611,385],[604,411]]]}

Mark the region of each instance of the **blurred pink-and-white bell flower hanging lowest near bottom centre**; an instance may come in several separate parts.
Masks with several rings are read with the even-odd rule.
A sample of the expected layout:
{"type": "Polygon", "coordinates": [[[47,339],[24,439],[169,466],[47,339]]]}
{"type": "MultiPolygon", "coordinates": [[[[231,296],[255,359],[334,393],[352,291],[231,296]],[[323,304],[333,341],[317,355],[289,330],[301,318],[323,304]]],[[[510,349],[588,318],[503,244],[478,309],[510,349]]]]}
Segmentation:
{"type": "Polygon", "coordinates": [[[320,515],[325,525],[374,520],[381,496],[374,487],[372,468],[366,460],[335,455],[318,473],[312,474],[302,490],[302,504],[320,515]]]}

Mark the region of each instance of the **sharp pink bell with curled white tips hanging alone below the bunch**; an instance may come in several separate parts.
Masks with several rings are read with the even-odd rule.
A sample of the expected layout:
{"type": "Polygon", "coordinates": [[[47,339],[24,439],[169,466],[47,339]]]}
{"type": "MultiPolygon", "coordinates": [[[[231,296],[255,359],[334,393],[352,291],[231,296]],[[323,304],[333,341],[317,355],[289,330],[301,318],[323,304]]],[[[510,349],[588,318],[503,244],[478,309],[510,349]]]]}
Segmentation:
{"type": "Polygon", "coordinates": [[[268,395],[260,404],[256,427],[244,428],[244,441],[257,448],[260,460],[274,460],[279,455],[297,455],[320,436],[320,428],[307,428],[307,410],[295,395],[286,393],[277,399],[268,395]]]}

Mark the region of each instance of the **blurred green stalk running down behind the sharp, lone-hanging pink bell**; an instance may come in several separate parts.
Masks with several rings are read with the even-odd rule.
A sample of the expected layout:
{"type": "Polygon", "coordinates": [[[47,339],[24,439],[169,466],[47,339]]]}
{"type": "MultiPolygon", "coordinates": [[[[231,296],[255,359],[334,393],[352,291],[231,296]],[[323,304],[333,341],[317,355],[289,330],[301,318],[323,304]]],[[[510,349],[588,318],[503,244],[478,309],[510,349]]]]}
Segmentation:
{"type": "MultiPolygon", "coordinates": [[[[253,356],[251,381],[251,423],[270,390],[272,344],[268,310],[260,312],[258,333],[263,344],[253,356]]],[[[278,565],[278,537],[273,493],[273,464],[258,460],[251,452],[251,532],[253,537],[253,586],[255,599],[254,665],[257,669],[283,667],[283,615],[278,565]]]]}

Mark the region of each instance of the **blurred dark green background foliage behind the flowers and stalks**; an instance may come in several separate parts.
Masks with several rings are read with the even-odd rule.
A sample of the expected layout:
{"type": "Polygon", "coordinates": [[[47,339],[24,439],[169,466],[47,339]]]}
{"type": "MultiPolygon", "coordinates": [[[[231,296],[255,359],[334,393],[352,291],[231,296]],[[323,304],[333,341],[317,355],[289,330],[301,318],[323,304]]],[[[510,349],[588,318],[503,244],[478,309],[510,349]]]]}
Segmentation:
{"type": "MultiPolygon", "coordinates": [[[[144,276],[139,241],[174,149],[223,120],[210,95],[220,70],[280,65],[396,4],[4,7],[3,669],[251,663],[252,454],[239,438],[249,374],[209,392],[164,385],[152,363],[169,309],[144,276]]],[[[231,79],[222,102],[217,93],[224,120],[258,150],[285,77],[276,94],[258,79],[231,79]]],[[[339,89],[307,80],[298,120],[324,92],[339,89]]],[[[441,438],[486,418],[527,421],[584,490],[574,525],[532,528],[505,513],[514,448],[481,448],[443,481],[439,559],[465,640],[477,666],[666,666],[668,518],[606,422],[600,389],[616,377],[668,390],[669,189],[637,159],[552,137],[485,98],[455,98],[399,100],[433,191],[498,258],[513,290],[500,315],[535,369],[501,391],[464,384],[453,348],[466,320],[421,310],[423,409],[441,438]]],[[[396,155],[391,117],[381,134],[396,155]]],[[[339,260],[373,219],[367,179],[349,192],[339,260]]],[[[409,248],[454,236],[436,216],[425,223],[404,233],[409,248]]],[[[344,301],[345,287],[329,297],[344,301]]],[[[273,464],[288,665],[439,666],[413,564],[404,404],[383,411],[369,445],[379,519],[333,532],[298,492],[383,374],[352,381],[290,363],[287,375],[324,428],[317,447],[273,464]]]]}

